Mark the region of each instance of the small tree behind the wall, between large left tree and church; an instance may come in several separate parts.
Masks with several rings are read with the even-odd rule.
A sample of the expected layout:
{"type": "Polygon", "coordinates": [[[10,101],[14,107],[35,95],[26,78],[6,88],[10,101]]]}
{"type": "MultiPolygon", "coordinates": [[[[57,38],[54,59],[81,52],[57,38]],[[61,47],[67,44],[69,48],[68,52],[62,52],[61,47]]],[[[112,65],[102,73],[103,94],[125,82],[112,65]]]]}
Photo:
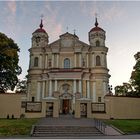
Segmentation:
{"type": "Polygon", "coordinates": [[[27,93],[27,79],[19,80],[16,86],[16,93],[27,93]]]}

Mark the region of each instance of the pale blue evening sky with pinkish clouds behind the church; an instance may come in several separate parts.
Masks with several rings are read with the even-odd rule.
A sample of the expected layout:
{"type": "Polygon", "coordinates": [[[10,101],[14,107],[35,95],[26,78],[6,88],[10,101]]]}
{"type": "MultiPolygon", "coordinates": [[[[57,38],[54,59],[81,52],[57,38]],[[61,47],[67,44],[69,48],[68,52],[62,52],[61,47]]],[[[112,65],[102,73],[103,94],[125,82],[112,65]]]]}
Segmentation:
{"type": "Polygon", "coordinates": [[[140,1],[0,1],[0,32],[20,47],[19,65],[23,79],[29,67],[32,33],[39,28],[43,14],[49,43],[74,29],[79,39],[89,44],[88,32],[97,13],[99,27],[106,31],[109,84],[113,88],[128,82],[140,51],[140,1]]]}

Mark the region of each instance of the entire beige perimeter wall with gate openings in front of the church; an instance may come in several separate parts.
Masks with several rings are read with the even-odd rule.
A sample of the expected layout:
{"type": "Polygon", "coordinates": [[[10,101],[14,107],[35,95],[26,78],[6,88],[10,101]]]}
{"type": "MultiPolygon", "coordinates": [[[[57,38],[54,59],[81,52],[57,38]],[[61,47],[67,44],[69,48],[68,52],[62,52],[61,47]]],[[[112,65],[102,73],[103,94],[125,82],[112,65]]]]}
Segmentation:
{"type": "MultiPolygon", "coordinates": [[[[43,100],[41,112],[26,112],[21,108],[21,101],[25,94],[4,93],[0,94],[0,118],[7,118],[7,115],[20,118],[24,114],[26,118],[40,118],[46,116],[47,103],[53,103],[53,117],[59,117],[59,101],[43,100]]],[[[76,100],[75,117],[81,117],[80,104],[86,104],[87,118],[98,119],[140,119],[140,98],[105,96],[105,112],[92,112],[92,102],[90,100],[76,100]]]]}

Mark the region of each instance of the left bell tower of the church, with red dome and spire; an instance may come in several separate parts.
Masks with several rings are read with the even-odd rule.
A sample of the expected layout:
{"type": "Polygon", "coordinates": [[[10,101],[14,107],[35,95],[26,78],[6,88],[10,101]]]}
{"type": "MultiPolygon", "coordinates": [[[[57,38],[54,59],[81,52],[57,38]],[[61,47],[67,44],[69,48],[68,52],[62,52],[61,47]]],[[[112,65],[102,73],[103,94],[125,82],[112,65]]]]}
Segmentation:
{"type": "Polygon", "coordinates": [[[28,101],[40,101],[40,89],[41,85],[39,80],[41,79],[42,69],[45,67],[45,48],[48,46],[48,34],[43,29],[43,20],[39,28],[32,33],[32,44],[29,49],[30,62],[28,70],[28,101]]]}

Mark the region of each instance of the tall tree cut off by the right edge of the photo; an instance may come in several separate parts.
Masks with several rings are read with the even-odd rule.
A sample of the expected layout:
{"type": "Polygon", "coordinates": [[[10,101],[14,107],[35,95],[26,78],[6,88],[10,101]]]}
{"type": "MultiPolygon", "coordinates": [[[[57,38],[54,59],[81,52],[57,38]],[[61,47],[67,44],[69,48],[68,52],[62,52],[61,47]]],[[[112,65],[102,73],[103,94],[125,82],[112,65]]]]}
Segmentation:
{"type": "Polygon", "coordinates": [[[140,96],[140,52],[137,52],[134,57],[136,64],[133,67],[130,80],[132,86],[134,87],[134,93],[137,96],[140,96]]]}

